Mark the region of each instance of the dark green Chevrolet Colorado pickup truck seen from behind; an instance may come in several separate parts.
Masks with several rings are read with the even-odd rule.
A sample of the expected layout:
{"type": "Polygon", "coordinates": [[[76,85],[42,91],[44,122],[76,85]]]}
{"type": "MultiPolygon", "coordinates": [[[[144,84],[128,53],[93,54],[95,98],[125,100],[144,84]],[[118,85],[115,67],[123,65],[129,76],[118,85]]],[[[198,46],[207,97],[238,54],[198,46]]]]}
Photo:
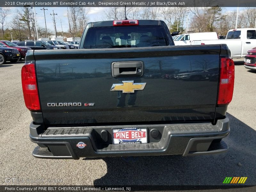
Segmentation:
{"type": "MultiPolygon", "coordinates": [[[[98,33],[94,28],[85,30],[87,37],[98,33]]],[[[168,44],[140,47],[142,40],[127,40],[131,34],[121,34],[117,44],[108,35],[111,46],[126,40],[122,48],[104,47],[102,35],[88,45],[84,35],[78,50],[28,52],[21,76],[33,118],[30,139],[38,144],[33,156],[188,156],[228,149],[222,141],[230,131],[225,114],[234,87],[228,47],[168,46],[167,32],[168,44]],[[163,78],[189,73],[196,76],[163,78]]]]}

